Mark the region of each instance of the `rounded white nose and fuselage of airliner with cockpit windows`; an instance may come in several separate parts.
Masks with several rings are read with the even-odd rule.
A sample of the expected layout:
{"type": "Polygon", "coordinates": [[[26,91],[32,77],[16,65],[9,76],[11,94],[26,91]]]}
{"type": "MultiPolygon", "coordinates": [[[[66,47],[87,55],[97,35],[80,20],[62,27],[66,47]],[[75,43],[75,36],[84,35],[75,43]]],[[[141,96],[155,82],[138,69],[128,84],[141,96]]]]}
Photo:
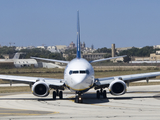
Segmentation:
{"type": "Polygon", "coordinates": [[[71,91],[87,91],[94,83],[94,69],[87,60],[75,58],[67,65],[64,80],[71,91]]]}

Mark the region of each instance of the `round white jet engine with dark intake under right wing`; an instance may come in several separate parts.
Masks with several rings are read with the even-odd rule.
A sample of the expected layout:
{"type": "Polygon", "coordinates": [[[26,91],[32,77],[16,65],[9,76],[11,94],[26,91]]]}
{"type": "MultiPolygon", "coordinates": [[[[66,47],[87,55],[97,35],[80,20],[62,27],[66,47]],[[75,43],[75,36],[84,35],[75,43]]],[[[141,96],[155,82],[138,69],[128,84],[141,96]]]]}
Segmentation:
{"type": "Polygon", "coordinates": [[[126,93],[126,84],[122,80],[114,80],[109,85],[109,91],[112,95],[123,95],[126,93]]]}

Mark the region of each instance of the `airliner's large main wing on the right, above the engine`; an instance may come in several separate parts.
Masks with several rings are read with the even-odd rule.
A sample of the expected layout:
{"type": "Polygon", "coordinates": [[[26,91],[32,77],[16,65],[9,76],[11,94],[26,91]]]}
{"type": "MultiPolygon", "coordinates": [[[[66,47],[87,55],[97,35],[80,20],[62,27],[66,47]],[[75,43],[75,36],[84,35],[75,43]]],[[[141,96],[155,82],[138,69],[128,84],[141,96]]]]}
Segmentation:
{"type": "Polygon", "coordinates": [[[160,76],[160,72],[151,72],[151,73],[142,73],[142,74],[132,74],[132,75],[122,75],[115,77],[106,77],[106,78],[96,78],[95,85],[96,86],[104,86],[108,87],[109,84],[114,80],[123,80],[125,83],[140,81],[140,80],[149,80],[150,78],[155,78],[156,76],[160,76]]]}

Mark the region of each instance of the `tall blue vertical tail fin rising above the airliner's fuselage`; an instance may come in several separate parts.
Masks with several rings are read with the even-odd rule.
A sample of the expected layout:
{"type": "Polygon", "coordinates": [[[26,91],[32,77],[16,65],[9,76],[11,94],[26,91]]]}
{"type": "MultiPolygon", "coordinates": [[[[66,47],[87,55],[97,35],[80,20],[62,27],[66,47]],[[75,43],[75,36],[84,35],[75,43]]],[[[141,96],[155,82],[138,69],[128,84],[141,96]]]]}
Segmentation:
{"type": "Polygon", "coordinates": [[[77,58],[81,58],[79,11],[77,11],[77,58]]]}

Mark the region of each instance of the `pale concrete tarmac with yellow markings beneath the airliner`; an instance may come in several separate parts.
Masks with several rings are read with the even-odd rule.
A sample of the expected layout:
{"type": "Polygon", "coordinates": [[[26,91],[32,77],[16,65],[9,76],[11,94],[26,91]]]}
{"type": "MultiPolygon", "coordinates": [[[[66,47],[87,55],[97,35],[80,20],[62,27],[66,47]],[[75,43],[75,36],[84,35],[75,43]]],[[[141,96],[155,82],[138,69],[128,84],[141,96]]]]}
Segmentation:
{"type": "Polygon", "coordinates": [[[159,120],[160,85],[129,87],[122,96],[107,94],[96,99],[96,91],[83,95],[84,103],[74,103],[75,94],[64,92],[64,99],[35,97],[31,93],[0,94],[0,120],[159,120]]]}

